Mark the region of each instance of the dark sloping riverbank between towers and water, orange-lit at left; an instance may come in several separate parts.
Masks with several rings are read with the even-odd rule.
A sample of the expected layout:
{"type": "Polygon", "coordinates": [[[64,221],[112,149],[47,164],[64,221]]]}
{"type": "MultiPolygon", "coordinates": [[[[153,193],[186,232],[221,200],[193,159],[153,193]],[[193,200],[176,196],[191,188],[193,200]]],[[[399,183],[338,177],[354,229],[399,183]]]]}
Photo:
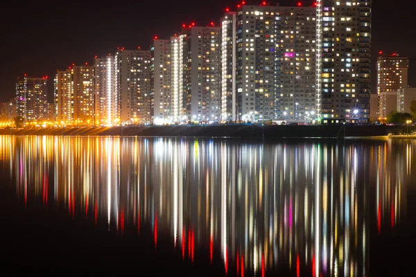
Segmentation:
{"type": "Polygon", "coordinates": [[[128,127],[4,128],[1,135],[15,136],[145,136],[229,137],[265,139],[343,139],[386,136],[397,130],[385,125],[166,125],[128,127]]]}

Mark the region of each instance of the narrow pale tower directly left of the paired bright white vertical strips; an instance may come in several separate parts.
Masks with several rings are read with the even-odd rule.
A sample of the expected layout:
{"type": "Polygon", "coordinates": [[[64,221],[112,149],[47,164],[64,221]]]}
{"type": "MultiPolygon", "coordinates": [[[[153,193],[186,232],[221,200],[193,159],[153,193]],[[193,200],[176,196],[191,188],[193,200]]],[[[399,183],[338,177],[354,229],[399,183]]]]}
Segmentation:
{"type": "Polygon", "coordinates": [[[172,45],[170,39],[154,39],[152,52],[153,123],[173,123],[172,45]]]}

